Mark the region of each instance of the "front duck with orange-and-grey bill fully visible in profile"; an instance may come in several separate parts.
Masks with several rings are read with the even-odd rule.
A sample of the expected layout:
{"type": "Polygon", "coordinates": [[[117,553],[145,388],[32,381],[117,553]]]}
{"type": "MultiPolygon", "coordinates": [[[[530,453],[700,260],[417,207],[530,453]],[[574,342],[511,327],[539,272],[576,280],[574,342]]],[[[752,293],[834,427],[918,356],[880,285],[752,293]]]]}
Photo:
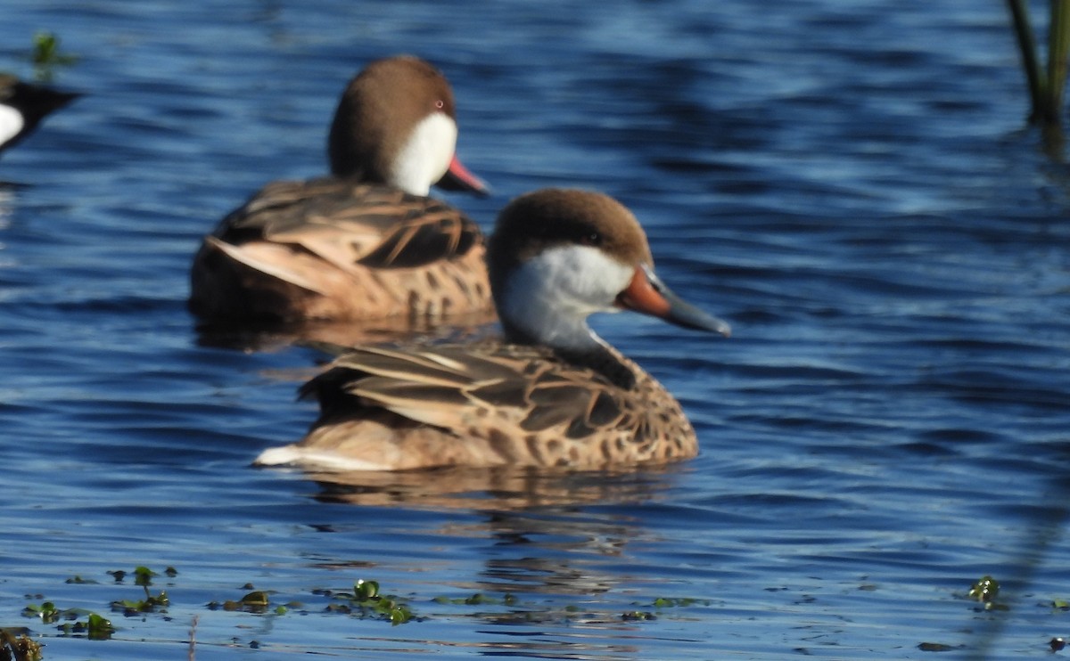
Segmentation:
{"type": "Polygon", "coordinates": [[[487,262],[501,338],[339,355],[300,389],[320,408],[307,434],[254,464],[616,470],[698,454],[679,402],[587,324],[633,310],[731,333],[657,277],[626,206],[577,188],[520,196],[499,214],[487,262]]]}

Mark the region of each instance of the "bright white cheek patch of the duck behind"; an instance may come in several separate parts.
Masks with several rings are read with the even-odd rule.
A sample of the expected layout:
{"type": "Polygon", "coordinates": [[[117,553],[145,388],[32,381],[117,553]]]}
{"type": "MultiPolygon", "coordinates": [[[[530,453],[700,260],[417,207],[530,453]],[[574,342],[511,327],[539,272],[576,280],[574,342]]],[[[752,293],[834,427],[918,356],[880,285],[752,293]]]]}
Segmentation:
{"type": "Polygon", "coordinates": [[[394,185],[426,196],[446,173],[456,149],[457,122],[443,112],[424,118],[394,162],[394,185]]]}

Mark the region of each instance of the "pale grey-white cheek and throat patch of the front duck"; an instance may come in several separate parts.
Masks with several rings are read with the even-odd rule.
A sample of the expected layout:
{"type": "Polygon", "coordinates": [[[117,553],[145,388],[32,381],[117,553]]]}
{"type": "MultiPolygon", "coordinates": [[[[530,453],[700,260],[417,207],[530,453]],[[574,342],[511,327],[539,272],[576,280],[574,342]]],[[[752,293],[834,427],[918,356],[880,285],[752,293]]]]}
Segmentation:
{"type": "Polygon", "coordinates": [[[587,316],[617,311],[613,303],[633,274],[597,248],[551,248],[509,276],[501,313],[551,347],[582,347],[593,341],[587,316]]]}

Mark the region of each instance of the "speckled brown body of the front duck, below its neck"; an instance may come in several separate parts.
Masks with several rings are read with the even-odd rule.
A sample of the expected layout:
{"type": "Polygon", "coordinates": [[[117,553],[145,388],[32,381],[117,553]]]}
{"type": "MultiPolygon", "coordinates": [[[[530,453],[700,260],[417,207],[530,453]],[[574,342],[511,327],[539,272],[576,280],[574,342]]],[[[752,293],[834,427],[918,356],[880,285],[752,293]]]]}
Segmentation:
{"type": "Polygon", "coordinates": [[[286,455],[260,461],[275,463],[274,456],[330,468],[328,455],[332,464],[349,468],[601,468],[696,456],[694,430],[672,395],[614,355],[636,375],[635,388],[623,390],[533,347],[357,350],[306,386],[324,409],[308,435],[286,455]],[[437,388],[454,395],[437,395],[437,388]]]}

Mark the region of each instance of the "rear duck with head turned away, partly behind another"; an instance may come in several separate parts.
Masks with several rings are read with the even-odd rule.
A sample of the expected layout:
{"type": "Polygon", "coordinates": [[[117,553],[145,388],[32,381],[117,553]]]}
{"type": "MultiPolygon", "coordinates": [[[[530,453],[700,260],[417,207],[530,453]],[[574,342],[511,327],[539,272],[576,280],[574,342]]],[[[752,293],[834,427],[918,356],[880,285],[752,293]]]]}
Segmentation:
{"type": "Polygon", "coordinates": [[[265,185],[204,236],[189,309],[208,322],[434,322],[492,309],[479,227],[430,187],[489,195],[456,154],[453,90],[413,56],[346,87],[331,174],[265,185]]]}

